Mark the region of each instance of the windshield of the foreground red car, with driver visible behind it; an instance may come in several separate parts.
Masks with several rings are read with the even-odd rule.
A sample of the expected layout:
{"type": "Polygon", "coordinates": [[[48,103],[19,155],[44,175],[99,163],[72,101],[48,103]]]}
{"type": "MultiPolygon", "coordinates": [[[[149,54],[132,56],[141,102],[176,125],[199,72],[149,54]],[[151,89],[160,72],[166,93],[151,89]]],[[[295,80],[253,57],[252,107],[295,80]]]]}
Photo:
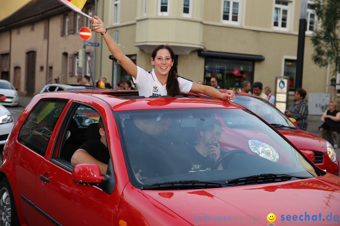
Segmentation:
{"type": "Polygon", "coordinates": [[[183,181],[225,184],[262,174],[298,178],[319,174],[248,110],[151,109],[119,111],[115,117],[135,187],[183,181]]]}

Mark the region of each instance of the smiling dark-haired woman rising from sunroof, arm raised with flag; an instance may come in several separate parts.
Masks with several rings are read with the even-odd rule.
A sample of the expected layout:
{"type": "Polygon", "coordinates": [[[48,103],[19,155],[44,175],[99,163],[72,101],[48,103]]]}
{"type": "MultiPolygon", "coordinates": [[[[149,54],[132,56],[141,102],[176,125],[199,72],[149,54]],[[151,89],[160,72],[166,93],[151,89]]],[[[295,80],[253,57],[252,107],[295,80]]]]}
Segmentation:
{"type": "Polygon", "coordinates": [[[151,73],[137,66],[125,56],[118,44],[107,33],[103,21],[95,16],[90,19],[92,29],[100,33],[108,46],[112,55],[120,65],[132,76],[133,82],[137,85],[140,96],[176,96],[180,93],[202,93],[210,97],[219,98],[225,101],[234,100],[235,95],[232,90],[227,90],[225,94],[220,93],[211,86],[193,83],[190,80],[177,75],[177,63],[175,54],[168,45],[157,46],[151,56],[151,64],[154,66],[151,73]]]}

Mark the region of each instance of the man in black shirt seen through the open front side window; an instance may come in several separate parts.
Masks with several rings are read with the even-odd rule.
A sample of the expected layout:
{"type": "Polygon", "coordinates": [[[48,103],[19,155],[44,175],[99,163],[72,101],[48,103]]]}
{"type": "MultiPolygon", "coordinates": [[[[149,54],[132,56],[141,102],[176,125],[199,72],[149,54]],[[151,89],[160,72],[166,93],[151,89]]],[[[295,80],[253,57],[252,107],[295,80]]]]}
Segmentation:
{"type": "Polygon", "coordinates": [[[81,163],[96,163],[102,175],[106,174],[107,164],[110,159],[105,135],[105,126],[102,118],[98,122],[100,140],[88,140],[74,152],[71,158],[72,166],[81,163]]]}

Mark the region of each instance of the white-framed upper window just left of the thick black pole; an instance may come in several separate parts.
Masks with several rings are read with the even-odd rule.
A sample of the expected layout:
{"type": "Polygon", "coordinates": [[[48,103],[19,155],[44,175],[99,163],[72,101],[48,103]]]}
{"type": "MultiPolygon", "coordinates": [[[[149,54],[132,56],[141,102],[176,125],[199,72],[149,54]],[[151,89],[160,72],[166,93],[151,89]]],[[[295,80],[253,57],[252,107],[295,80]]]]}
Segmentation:
{"type": "Polygon", "coordinates": [[[290,2],[275,1],[274,28],[288,29],[290,2]]]}

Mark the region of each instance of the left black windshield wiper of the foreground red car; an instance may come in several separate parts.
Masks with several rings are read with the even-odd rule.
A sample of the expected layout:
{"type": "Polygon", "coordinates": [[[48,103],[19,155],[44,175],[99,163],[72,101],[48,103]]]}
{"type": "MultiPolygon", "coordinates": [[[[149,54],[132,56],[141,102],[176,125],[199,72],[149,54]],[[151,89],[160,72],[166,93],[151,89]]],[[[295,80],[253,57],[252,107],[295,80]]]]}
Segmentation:
{"type": "Polygon", "coordinates": [[[220,188],[225,186],[238,186],[234,184],[219,184],[205,181],[175,181],[146,185],[141,190],[179,190],[179,189],[203,189],[220,188]]]}

